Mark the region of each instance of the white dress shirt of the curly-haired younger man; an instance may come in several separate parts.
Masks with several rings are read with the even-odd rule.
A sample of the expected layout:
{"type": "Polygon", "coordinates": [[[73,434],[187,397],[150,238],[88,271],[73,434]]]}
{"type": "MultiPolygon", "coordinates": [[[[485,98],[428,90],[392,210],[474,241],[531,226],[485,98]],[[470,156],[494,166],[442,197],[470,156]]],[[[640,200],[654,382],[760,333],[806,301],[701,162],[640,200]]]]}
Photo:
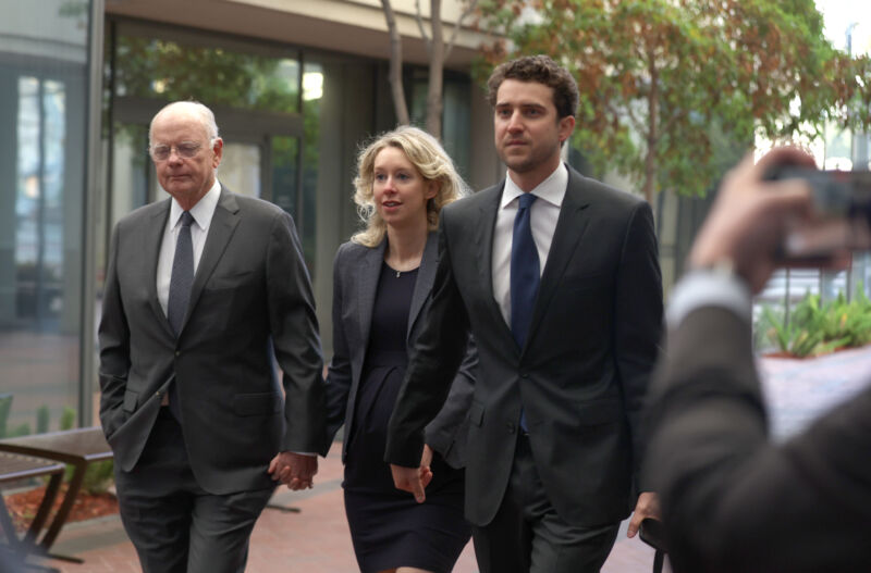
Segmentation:
{"type": "MultiPolygon", "coordinates": [[[[541,182],[531,192],[538,199],[529,208],[532,240],[538,250],[539,273],[544,272],[548,253],[551,251],[553,232],[556,220],[560,219],[560,208],[568,187],[568,167],[560,166],[541,182]]],[[[491,267],[493,278],[493,298],[495,298],[505,323],[511,325],[511,248],[514,241],[514,219],[517,215],[518,198],[524,191],[505,176],[505,187],[502,189],[502,200],[496,213],[496,226],[493,232],[493,262],[491,267]]]]}

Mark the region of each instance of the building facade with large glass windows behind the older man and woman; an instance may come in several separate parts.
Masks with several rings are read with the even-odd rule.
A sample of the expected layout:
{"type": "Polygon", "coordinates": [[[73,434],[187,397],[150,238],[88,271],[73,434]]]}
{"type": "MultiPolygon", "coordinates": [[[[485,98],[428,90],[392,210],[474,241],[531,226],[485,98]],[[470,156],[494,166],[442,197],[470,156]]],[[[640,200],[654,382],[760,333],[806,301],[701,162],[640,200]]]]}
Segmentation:
{"type": "MultiPolygon", "coordinates": [[[[462,2],[443,3],[450,38],[462,2]]],[[[395,125],[380,1],[10,4],[0,21],[0,435],[96,422],[109,236],[131,210],[165,197],[147,129],[177,99],[216,112],[222,183],[294,215],[329,357],[332,259],[358,225],[357,149],[395,125]]],[[[415,2],[393,4],[406,98],[422,124],[426,42],[415,2]]],[[[442,139],[473,187],[501,172],[469,73],[480,41],[461,27],[444,72],[442,139]]]]}

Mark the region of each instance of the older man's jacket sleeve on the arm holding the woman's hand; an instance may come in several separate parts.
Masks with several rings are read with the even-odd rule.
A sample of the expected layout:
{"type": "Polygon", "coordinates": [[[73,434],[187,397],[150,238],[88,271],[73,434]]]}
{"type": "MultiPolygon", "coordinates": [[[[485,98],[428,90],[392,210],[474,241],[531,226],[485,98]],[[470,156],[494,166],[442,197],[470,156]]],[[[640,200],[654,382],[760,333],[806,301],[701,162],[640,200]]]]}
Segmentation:
{"type": "Polygon", "coordinates": [[[320,338],[308,271],[293,220],[273,220],[267,252],[267,296],[275,358],[283,373],[283,451],[327,454],[327,406],[320,338]]]}

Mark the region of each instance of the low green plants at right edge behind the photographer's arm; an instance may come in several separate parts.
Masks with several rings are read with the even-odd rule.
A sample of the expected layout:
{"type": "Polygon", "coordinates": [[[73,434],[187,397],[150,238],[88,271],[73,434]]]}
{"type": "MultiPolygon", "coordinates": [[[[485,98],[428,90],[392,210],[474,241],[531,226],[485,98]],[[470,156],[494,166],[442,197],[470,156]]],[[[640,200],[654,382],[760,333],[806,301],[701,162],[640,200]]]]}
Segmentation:
{"type": "Polygon", "coordinates": [[[871,301],[863,289],[857,290],[850,302],[841,294],[825,304],[819,295],[808,294],[788,320],[765,307],[759,331],[781,351],[799,358],[864,346],[871,342],[871,301]]]}

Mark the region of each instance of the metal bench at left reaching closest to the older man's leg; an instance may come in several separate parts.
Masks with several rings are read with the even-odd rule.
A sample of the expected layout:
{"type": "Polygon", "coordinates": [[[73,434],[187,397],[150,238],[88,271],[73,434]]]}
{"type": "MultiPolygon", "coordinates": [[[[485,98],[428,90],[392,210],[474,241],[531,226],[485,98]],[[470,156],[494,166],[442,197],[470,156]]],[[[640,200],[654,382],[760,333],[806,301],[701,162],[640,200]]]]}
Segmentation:
{"type": "MultiPolygon", "coordinates": [[[[65,429],[61,432],[50,432],[48,434],[35,434],[32,436],[22,436],[15,438],[0,439],[0,452],[15,453],[19,456],[32,456],[35,458],[44,458],[52,460],[52,462],[61,462],[73,468],[72,476],[70,477],[70,485],[66,494],[63,497],[48,531],[41,539],[37,540],[39,530],[28,532],[28,539],[32,545],[32,552],[48,556],[49,549],[58,534],[70,516],[70,511],[73,509],[78,490],[82,488],[82,482],[85,478],[85,471],[88,464],[96,461],[108,460],[112,458],[112,450],[109,448],[106,438],[103,437],[102,429],[99,427],[85,427],[78,429],[65,429]]],[[[58,464],[63,471],[63,465],[58,464]]],[[[54,486],[53,497],[57,496],[57,487],[60,485],[60,475],[58,474],[58,485],[54,486]]],[[[52,477],[52,481],[54,477],[52,477]]],[[[49,484],[51,487],[51,484],[49,484]]],[[[48,490],[46,497],[48,497],[48,490]]],[[[50,505],[49,505],[50,508],[50,505]]],[[[41,507],[40,507],[41,511],[41,507]]],[[[42,516],[45,522],[47,515],[42,516]]],[[[34,520],[36,521],[36,520],[34,520]]],[[[41,530],[44,523],[39,523],[41,530]]],[[[30,530],[34,530],[33,524],[30,530]]],[[[66,559],[70,561],[81,562],[81,559],[65,558],[60,556],[51,556],[54,558],[66,559]]]]}

